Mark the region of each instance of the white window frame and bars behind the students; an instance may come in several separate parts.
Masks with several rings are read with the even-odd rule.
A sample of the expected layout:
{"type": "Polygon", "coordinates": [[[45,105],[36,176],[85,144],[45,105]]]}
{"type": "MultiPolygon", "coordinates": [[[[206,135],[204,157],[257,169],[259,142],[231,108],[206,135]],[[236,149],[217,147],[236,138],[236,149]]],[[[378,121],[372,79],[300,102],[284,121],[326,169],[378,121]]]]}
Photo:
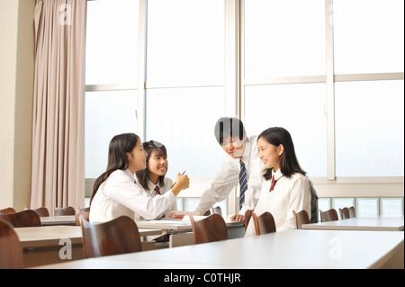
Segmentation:
{"type": "MultiPolygon", "coordinates": [[[[89,1],[89,0],[87,0],[89,1]]],[[[245,87],[247,85],[284,85],[324,83],[327,85],[327,176],[311,178],[320,197],[402,197],[403,176],[390,177],[337,177],[335,159],[335,91],[337,82],[347,81],[380,81],[403,80],[404,73],[373,73],[373,74],[342,74],[334,73],[334,44],[333,44],[333,0],[325,0],[325,33],[326,33],[326,67],[325,75],[318,76],[283,76],[246,78],[245,48],[244,48],[244,11],[245,0],[224,0],[225,5],[225,113],[245,120],[245,87]],[[332,23],[332,24],[331,24],[332,23]],[[382,192],[383,191],[383,192],[382,192]]],[[[138,134],[145,139],[146,130],[146,91],[162,87],[157,83],[148,83],[146,79],[146,51],[148,29],[148,0],[139,0],[139,49],[138,49],[138,79],[125,85],[85,85],[85,92],[137,90],[138,91],[138,134]],[[136,83],[137,82],[137,83],[136,83]]],[[[197,86],[216,86],[217,84],[202,83],[197,86]]],[[[178,86],[178,85],[177,85],[178,86]]],[[[170,87],[175,87],[170,85],[170,87]]],[[[91,190],[94,179],[86,178],[87,189],[91,190]]],[[[211,178],[193,179],[191,189],[184,191],[180,197],[201,197],[203,191],[211,183],[211,178]]],[[[90,193],[91,194],[91,193],[90,193]]],[[[238,186],[229,193],[229,214],[238,210],[238,186]]]]}

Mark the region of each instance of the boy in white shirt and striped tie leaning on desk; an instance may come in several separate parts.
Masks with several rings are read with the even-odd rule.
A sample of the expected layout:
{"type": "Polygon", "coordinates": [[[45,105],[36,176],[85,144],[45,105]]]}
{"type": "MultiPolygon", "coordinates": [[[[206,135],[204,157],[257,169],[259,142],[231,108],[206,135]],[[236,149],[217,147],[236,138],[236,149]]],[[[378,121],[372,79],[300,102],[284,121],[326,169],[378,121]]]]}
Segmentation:
{"type": "Polygon", "coordinates": [[[231,220],[241,221],[247,210],[255,208],[262,186],[264,166],[258,157],[257,137],[248,138],[242,121],[228,117],[217,121],[214,133],[226,155],[195,212],[204,214],[215,202],[226,199],[239,183],[239,211],[231,220]]]}

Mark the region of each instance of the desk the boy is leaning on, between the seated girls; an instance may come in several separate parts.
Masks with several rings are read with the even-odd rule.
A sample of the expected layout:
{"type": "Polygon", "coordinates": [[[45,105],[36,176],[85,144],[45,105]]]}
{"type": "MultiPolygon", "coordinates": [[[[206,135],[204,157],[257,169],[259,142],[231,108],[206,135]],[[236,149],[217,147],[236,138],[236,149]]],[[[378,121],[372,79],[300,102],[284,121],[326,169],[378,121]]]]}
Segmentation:
{"type": "MultiPolygon", "coordinates": [[[[228,228],[228,237],[243,238],[245,236],[245,222],[225,221],[228,228]]],[[[163,219],[137,221],[142,229],[162,229],[162,234],[169,234],[169,247],[183,247],[193,245],[194,238],[190,221],[163,219]]]]}

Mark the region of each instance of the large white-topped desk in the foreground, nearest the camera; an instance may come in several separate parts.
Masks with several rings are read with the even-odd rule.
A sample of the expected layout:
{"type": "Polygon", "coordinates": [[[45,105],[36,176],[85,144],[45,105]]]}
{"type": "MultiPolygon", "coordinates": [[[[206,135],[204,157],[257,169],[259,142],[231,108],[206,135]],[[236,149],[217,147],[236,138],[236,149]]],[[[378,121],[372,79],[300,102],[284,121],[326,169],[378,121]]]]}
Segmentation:
{"type": "Polygon", "coordinates": [[[301,229],[39,268],[403,268],[403,246],[403,232],[301,229]]]}

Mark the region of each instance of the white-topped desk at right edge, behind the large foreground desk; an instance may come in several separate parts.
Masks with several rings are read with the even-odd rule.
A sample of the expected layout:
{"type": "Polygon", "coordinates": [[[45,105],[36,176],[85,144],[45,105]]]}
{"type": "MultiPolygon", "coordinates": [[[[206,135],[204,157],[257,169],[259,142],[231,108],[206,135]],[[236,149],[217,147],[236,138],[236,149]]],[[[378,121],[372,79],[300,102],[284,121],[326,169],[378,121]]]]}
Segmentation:
{"type": "Polygon", "coordinates": [[[400,231],[404,229],[402,219],[389,219],[385,217],[375,219],[347,219],[329,222],[302,224],[302,229],[328,229],[328,230],[380,230],[400,231]]]}

